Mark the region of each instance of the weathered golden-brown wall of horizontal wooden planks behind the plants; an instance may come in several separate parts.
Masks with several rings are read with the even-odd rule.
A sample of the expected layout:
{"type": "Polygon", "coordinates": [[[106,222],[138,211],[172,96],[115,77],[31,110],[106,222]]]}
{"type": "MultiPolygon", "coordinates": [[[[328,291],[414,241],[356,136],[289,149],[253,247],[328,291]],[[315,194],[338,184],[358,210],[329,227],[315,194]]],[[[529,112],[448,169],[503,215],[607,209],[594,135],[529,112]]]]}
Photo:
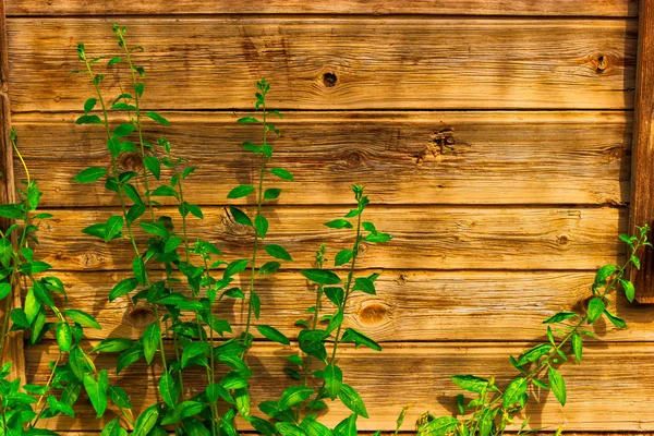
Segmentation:
{"type": "MultiPolygon", "coordinates": [[[[147,70],[144,105],[171,121],[167,136],[199,165],[187,197],[206,206],[194,232],[233,258],[250,237],[226,219],[226,194],[254,166],[239,144],[255,134],[234,121],[251,110],[255,81],[272,83],[282,110],[277,161],[299,183],[270,213],[270,239],[310,265],[319,242],[344,243],[320,223],[367,186],[370,217],[396,238],[366,247],[361,268],[383,271],[378,295],[356,296],[348,318],[383,341],[382,354],[343,352],[347,382],[371,411],[366,431],[405,431],[425,410],[451,413],[452,374],[514,374],[508,355],[542,339],[541,322],[589,292],[593,271],[625,255],[635,77],[633,0],[7,0],[9,96],[23,154],[56,219],[41,228],[41,256],[61,272],[71,304],[108,335],[137,337],[128,302],[107,302],[128,271],[126,251],[80,230],[117,208],[99,186],[71,179],[101,165],[97,129],[75,126],[92,95],[69,71],[74,46],[118,47],[111,23],[129,28],[147,70]],[[451,148],[438,135],[451,129],[451,148]],[[432,152],[434,152],[432,154],[432,152]]],[[[119,73],[107,85],[118,89],[119,73]]],[[[122,76],[124,80],[124,75],[122,76]]],[[[124,162],[129,167],[130,162],[124,162]]],[[[23,173],[16,169],[16,179],[23,173]]],[[[123,244],[124,245],[124,244],[123,244]]],[[[264,281],[263,322],[293,336],[311,293],[292,269],[264,281]],[[289,300],[288,295],[292,295],[289,300]]],[[[582,365],[568,364],[568,404],[541,395],[534,427],[571,432],[654,429],[654,312],[617,301],[628,330],[596,327],[582,365]]],[[[234,323],[239,307],[218,311],[234,323]]],[[[44,382],[56,346],[26,349],[26,377],[44,382]]],[[[283,353],[257,346],[266,378],[256,397],[279,395],[283,353]]],[[[109,364],[105,358],[100,362],[109,364]]],[[[263,368],[262,368],[263,371],[263,368]]],[[[136,407],[155,399],[121,375],[136,407]]],[[[136,383],[138,380],[140,383],[136,383]]],[[[327,421],[337,422],[335,407],[327,421]]],[[[107,416],[107,420],[110,416],[107,416]]],[[[89,407],[51,421],[62,432],[97,432],[89,407]]],[[[78,434],[78,433],[70,433],[78,434]]],[[[86,433],[84,433],[86,434],[86,433]]]]}

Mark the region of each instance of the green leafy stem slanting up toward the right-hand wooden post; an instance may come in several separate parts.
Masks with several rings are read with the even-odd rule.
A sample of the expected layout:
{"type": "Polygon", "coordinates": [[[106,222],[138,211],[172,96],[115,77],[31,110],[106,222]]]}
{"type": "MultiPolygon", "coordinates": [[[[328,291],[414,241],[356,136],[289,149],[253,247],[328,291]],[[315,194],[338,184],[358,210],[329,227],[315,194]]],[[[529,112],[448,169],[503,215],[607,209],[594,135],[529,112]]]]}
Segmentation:
{"type": "MultiPolygon", "coordinates": [[[[419,436],[501,435],[508,425],[516,424],[513,417],[525,408],[532,386],[552,389],[558,402],[566,405],[566,382],[557,367],[567,362],[569,356],[581,363],[583,336],[595,338],[584,326],[592,325],[604,316],[618,328],[627,327],[623,319],[608,310],[610,302],[607,296],[622,289],[629,302],[634,299],[633,284],[625,275],[630,266],[640,268],[639,249],[652,246],[647,241],[649,227],[644,226],[638,230],[635,235],[620,235],[620,240],[629,247],[627,262],[621,266],[604,265],[597,270],[591,286],[588,308],[579,312],[559,312],[545,319],[543,324],[547,324],[547,341],[525,350],[518,358],[510,358],[511,364],[521,373],[520,376],[513,378],[504,391],[495,383],[495,377],[487,379],[474,375],[453,376],[452,382],[461,389],[474,393],[475,398],[467,402],[463,395],[458,396],[459,419],[424,414],[417,422],[419,436]]],[[[528,431],[528,424],[529,416],[522,422],[519,434],[535,432],[528,431]]],[[[557,434],[561,431],[562,427],[557,434]]]]}

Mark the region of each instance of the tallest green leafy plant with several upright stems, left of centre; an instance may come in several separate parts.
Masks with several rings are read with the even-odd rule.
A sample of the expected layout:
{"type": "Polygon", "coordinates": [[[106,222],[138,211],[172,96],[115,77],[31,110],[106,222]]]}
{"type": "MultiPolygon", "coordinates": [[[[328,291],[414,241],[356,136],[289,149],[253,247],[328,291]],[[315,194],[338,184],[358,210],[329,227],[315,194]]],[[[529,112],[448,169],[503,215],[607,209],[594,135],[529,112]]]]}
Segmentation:
{"type": "MultiPolygon", "coordinates": [[[[347,218],[358,218],[356,235],[352,250],[343,250],[336,256],[336,266],[350,263],[344,288],[326,284],[340,283],[336,272],[323,269],[324,257],[318,259],[319,268],[304,270],[305,277],[318,284],[316,317],[311,329],[300,332],[300,348],[306,354],[305,361],[296,356],[295,363],[303,365],[302,386],[287,389],[279,401],[267,401],[261,409],[272,421],[257,417],[251,413],[250,383],[253,371],[245,362],[245,354],[254,341],[253,329],[271,341],[290,344],[290,339],[272,326],[257,324],[262,301],[256,292],[257,277],[275,274],[283,262],[291,262],[291,254],[281,245],[266,243],[269,222],[265,216],[265,204],[279,197],[281,189],[269,186],[267,175],[282,181],[293,181],[291,173],[282,168],[270,167],[274,147],[270,133],[280,134],[279,129],[270,122],[270,117],[282,118],[281,113],[267,108],[267,95],[270,84],[266,80],[257,83],[255,94],[255,111],[257,117],[245,117],[238,120],[241,124],[262,128],[262,142],[245,142],[242,147],[253,153],[258,162],[256,183],[233,187],[228,199],[246,196],[256,197],[256,208],[249,215],[247,210],[234,205],[229,213],[234,222],[252,230],[253,249],[247,258],[226,262],[219,258],[220,250],[208,240],[191,241],[189,216],[204,218],[202,208],[184,198],[183,182],[195,167],[187,167],[187,159],[173,156],[173,147],[165,137],[148,140],[143,132],[143,121],[149,118],[156,123],[168,126],[169,122],[157,112],[145,112],[142,109],[145,85],[142,78],[145,70],[136,66],[132,55],[143,51],[141,47],[130,47],[125,40],[125,27],[113,26],[119,46],[123,49],[121,57],[112,58],[108,65],[117,68],[125,64],[132,78],[132,93],[123,93],[108,105],[100,84],[104,75],[97,74],[94,66],[101,58],[87,58],[83,44],[77,46],[77,55],[84,63],[84,72],[88,75],[96,95],[86,100],[84,114],[77,124],[98,124],[104,128],[109,162],[107,167],[90,167],[80,172],[74,180],[80,183],[105,181],[109,191],[118,194],[121,215],[109,217],[84,229],[84,232],[101,239],[106,243],[117,243],[128,239],[134,252],[132,275],[118,282],[109,294],[109,300],[130,296],[133,304],[147,304],[153,307],[154,319],[136,341],[130,338],[109,338],[101,341],[94,351],[120,353],[117,360],[117,373],[129,365],[144,359],[150,365],[158,353],[162,373],[158,380],[161,401],[146,408],[134,422],[134,434],[164,434],[174,429],[177,434],[237,434],[237,413],[252,426],[264,434],[288,434],[304,432],[302,426],[319,427],[314,414],[304,416],[303,409],[315,410],[324,407],[324,399],[337,397],[354,413],[367,415],[359,395],[347,384],[342,384],[342,374],[337,366],[337,348],[342,342],[354,342],[356,347],[365,344],[379,349],[372,339],[352,328],[341,329],[346,304],[352,292],[375,292],[374,279],[371,277],[354,278],[354,267],[360,245],[386,242],[390,237],[378,232],[372,222],[362,222],[361,214],[368,203],[363,187],[354,186],[356,208],[347,218]],[[99,116],[94,109],[99,102],[99,116]],[[113,121],[113,116],[120,120],[113,121]],[[126,117],[125,117],[126,114],[126,117]],[[126,119],[125,119],[126,118],[126,119]],[[117,124],[117,125],[116,125],[117,124]],[[116,126],[114,126],[116,125],[116,126]],[[131,140],[131,138],[134,140],[131,140]],[[155,146],[155,144],[157,146],[155,146]],[[120,171],[119,159],[123,154],[136,155],[143,162],[143,170],[120,171]],[[134,181],[141,180],[143,192],[134,181]],[[169,209],[155,198],[162,197],[177,204],[181,217],[181,231],[175,231],[175,219],[166,215],[169,209]],[[157,209],[157,210],[155,210],[157,209]],[[363,234],[365,231],[367,234],[363,234]],[[145,232],[143,242],[140,233],[145,232]],[[262,256],[269,259],[259,265],[262,256]],[[234,276],[247,274],[247,289],[233,287],[234,276]],[[161,279],[157,277],[164,275],[161,279]],[[329,317],[326,329],[317,326],[318,307],[323,290],[335,304],[337,312],[329,317]],[[245,302],[246,322],[240,334],[234,337],[232,326],[226,319],[213,314],[214,304],[221,299],[234,299],[245,302]],[[327,356],[326,342],[331,334],[334,346],[331,355],[327,356]],[[217,335],[220,341],[216,341],[217,335]],[[169,339],[172,343],[170,344],[169,339]],[[170,344],[167,344],[167,342],[170,344]],[[314,373],[323,379],[323,385],[315,392],[315,398],[307,401],[314,389],[308,387],[310,360],[317,358],[326,364],[324,372],[314,373]],[[184,374],[194,368],[202,368],[206,383],[202,389],[184,387],[184,374]],[[220,405],[220,407],[219,407],[220,405]],[[225,408],[227,405],[227,409],[225,408]],[[225,411],[226,410],[226,411],[225,411]],[[221,412],[223,411],[223,412],[221,412]],[[290,411],[290,414],[289,414],[290,411]],[[290,419],[290,416],[293,416],[290,419]],[[300,421],[302,417],[302,421],[300,421]]],[[[343,229],[354,228],[346,219],[327,223],[328,227],[343,229]]],[[[324,253],[324,252],[323,252],[324,253]]],[[[289,374],[296,374],[289,371],[289,374]]],[[[353,419],[355,415],[353,414],[353,419]]],[[[322,427],[320,427],[322,428],[322,427]]],[[[125,429],[118,419],[105,428],[104,435],[124,434],[125,429]]]]}

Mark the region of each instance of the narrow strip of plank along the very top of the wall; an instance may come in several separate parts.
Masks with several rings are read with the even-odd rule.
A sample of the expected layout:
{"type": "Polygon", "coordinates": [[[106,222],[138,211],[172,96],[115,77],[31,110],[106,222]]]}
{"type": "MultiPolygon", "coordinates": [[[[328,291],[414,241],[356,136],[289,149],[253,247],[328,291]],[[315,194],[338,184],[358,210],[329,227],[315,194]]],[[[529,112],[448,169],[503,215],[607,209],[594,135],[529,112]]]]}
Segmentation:
{"type": "Polygon", "coordinates": [[[547,16],[637,16],[634,0],[180,0],[162,8],[158,3],[125,0],[13,0],[8,15],[135,15],[135,14],[447,14],[447,15],[547,15],[547,16]]]}

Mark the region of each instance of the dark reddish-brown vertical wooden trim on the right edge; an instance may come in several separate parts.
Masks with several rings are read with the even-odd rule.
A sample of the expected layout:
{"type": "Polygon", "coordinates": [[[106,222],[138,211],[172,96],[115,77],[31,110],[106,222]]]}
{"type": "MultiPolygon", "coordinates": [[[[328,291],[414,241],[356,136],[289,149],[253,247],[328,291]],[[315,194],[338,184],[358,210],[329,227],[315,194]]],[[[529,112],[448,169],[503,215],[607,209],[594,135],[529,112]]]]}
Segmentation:
{"type": "MultiPolygon", "coordinates": [[[[654,225],[654,1],[641,0],[635,77],[635,113],[631,155],[629,230],[654,225]]],[[[650,234],[652,235],[652,233],[650,234]]],[[[637,300],[654,303],[654,252],[641,255],[641,269],[633,269],[637,300]]]]}

